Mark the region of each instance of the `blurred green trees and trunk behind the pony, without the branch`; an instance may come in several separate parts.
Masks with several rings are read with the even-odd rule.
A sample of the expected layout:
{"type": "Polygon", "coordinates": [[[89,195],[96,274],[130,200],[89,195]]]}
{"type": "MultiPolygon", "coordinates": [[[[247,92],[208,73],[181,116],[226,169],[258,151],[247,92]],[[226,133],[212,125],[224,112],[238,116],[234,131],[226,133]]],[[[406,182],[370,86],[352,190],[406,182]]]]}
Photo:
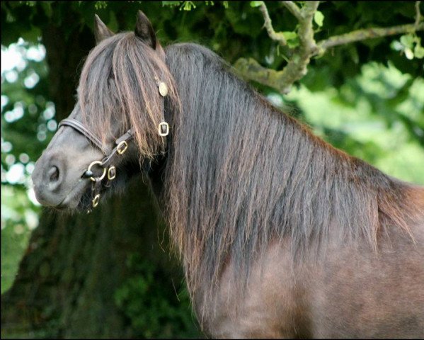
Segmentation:
{"type": "MultiPolygon", "coordinates": [[[[162,45],[197,42],[230,64],[252,57],[282,69],[257,1],[1,1],[1,337],[202,336],[181,267],[140,179],[91,215],[38,205],[30,174],[74,106],[97,13],[114,32],[138,9],[162,45]],[[144,193],[140,198],[139,193],[144,193]]],[[[294,17],[267,3],[276,31],[294,17]]],[[[423,4],[418,4],[424,12],[423,4]]],[[[326,1],[316,40],[416,20],[413,1],[326,1]]],[[[333,47],[287,95],[252,82],[332,145],[424,185],[423,32],[333,47]]]]}

